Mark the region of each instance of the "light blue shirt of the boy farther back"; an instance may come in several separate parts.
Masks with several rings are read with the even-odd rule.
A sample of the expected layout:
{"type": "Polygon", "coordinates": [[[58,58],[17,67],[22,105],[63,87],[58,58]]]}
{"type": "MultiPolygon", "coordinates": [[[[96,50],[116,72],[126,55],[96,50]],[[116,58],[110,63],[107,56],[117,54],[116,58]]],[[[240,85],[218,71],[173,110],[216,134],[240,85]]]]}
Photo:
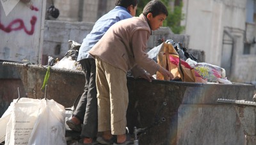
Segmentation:
{"type": "Polygon", "coordinates": [[[90,34],[84,38],[83,43],[79,49],[77,61],[81,61],[82,59],[86,58],[92,58],[88,51],[92,49],[93,45],[95,45],[95,43],[97,43],[100,38],[102,38],[109,27],[120,20],[128,19],[131,17],[132,15],[129,13],[129,11],[122,6],[115,6],[113,10],[100,17],[100,19],[95,22],[95,25],[93,26],[90,34]]]}

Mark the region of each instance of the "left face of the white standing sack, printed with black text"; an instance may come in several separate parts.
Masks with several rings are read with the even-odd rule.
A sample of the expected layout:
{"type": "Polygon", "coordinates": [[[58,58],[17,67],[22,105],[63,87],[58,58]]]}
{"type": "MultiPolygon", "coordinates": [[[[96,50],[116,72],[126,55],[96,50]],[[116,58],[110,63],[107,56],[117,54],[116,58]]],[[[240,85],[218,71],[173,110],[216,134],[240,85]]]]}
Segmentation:
{"type": "Polygon", "coordinates": [[[40,100],[20,98],[12,103],[10,120],[6,126],[5,144],[28,144],[38,112],[40,100]]]}

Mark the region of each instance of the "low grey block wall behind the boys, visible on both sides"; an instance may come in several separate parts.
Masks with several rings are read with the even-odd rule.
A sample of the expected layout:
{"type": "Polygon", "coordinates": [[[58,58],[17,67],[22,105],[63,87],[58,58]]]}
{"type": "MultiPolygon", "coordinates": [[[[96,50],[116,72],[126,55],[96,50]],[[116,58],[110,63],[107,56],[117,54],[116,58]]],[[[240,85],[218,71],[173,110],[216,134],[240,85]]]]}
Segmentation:
{"type": "MultiPolygon", "coordinates": [[[[93,23],[88,22],[67,22],[58,20],[45,20],[43,62],[47,64],[48,56],[62,58],[68,50],[68,40],[82,43],[83,39],[92,30],[93,23]],[[59,49],[60,47],[60,49],[59,49]],[[59,51],[60,50],[60,51],[59,51]],[[59,53],[56,53],[59,52],[59,53]]],[[[148,40],[148,49],[157,45],[159,38],[172,39],[175,42],[183,43],[188,47],[189,36],[173,34],[170,28],[161,27],[157,31],[152,31],[152,36],[148,40]]]]}

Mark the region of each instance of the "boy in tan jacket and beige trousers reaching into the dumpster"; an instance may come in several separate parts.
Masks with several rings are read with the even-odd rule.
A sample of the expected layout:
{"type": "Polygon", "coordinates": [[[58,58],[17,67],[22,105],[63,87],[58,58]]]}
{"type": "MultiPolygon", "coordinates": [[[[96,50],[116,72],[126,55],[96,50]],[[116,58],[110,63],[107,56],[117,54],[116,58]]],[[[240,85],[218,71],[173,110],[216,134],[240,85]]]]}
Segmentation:
{"type": "Polygon", "coordinates": [[[102,138],[106,141],[116,135],[115,144],[129,144],[125,134],[128,70],[134,77],[149,81],[157,71],[166,80],[173,79],[172,73],[148,58],[146,52],[151,30],[161,27],[167,16],[168,11],[161,1],[150,1],[140,17],[116,22],[89,51],[97,69],[98,131],[103,132],[102,138]]]}

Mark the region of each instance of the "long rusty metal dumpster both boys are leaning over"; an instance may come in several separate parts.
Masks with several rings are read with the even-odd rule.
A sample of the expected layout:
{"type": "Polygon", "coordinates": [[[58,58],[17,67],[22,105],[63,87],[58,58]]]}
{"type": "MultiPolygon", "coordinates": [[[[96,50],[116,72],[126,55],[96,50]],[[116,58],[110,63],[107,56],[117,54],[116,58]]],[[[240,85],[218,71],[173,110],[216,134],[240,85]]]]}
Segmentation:
{"type": "MultiPolygon", "coordinates": [[[[4,62],[3,65],[19,68],[20,77],[29,98],[44,97],[44,93],[40,89],[44,82],[46,67],[9,62],[4,62]]],[[[71,107],[77,95],[83,93],[83,72],[51,68],[47,86],[47,98],[53,99],[65,107],[71,107]]],[[[191,135],[189,132],[193,132],[193,137],[196,137],[200,130],[196,130],[191,126],[190,130],[186,130],[186,127],[188,127],[186,125],[200,126],[202,124],[205,126],[200,126],[201,129],[207,128],[207,124],[200,121],[205,119],[207,123],[211,123],[211,120],[214,120],[212,119],[215,117],[214,114],[216,111],[218,112],[218,110],[214,110],[214,114],[211,115],[211,111],[206,109],[210,117],[204,118],[204,116],[201,116],[202,118],[196,119],[198,113],[200,114],[200,111],[204,112],[205,108],[207,108],[205,105],[217,105],[218,98],[252,100],[251,96],[253,96],[254,90],[254,86],[249,84],[200,84],[163,80],[148,82],[147,80],[133,79],[132,77],[127,77],[127,87],[129,90],[127,126],[130,133],[132,134],[134,131],[134,126],[136,128],[146,128],[145,132],[139,135],[140,145],[186,144],[186,142],[193,141],[187,135],[191,135]],[[189,113],[193,111],[196,114],[189,113]],[[189,117],[193,119],[189,119],[189,117]]],[[[225,107],[225,109],[228,109],[228,107],[225,107]]],[[[236,111],[234,113],[236,114],[236,111]]],[[[207,140],[222,139],[222,128],[218,128],[218,123],[224,123],[222,125],[225,125],[227,115],[228,113],[225,113],[225,116],[217,116],[224,122],[215,123],[215,130],[214,128],[209,130],[208,134],[212,135],[211,139],[207,138],[210,135],[200,139],[204,138],[206,142],[207,140]],[[218,135],[214,133],[216,130],[218,135]]],[[[235,120],[232,123],[239,124],[239,121],[235,120]]],[[[244,137],[243,128],[237,124],[234,126],[236,126],[235,130],[239,134],[236,134],[237,141],[241,142],[244,137]]],[[[228,136],[227,134],[225,137],[227,138],[227,141],[225,140],[226,143],[229,144],[228,138],[230,137],[231,141],[234,136],[228,136]]],[[[197,143],[200,144],[200,142],[197,143]]]]}

